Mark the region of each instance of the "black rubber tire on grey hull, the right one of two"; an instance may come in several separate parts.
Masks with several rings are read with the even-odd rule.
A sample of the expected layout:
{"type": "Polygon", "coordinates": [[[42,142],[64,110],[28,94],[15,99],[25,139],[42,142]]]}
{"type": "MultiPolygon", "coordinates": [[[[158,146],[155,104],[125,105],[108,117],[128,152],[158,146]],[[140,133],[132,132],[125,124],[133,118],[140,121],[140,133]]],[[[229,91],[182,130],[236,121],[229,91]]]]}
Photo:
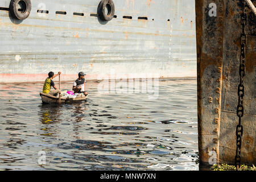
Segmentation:
{"type": "Polygon", "coordinates": [[[98,5],[98,15],[101,20],[110,21],[113,19],[115,14],[115,5],[112,0],[102,0],[98,5]],[[110,7],[109,13],[105,13],[106,6],[110,7]]]}

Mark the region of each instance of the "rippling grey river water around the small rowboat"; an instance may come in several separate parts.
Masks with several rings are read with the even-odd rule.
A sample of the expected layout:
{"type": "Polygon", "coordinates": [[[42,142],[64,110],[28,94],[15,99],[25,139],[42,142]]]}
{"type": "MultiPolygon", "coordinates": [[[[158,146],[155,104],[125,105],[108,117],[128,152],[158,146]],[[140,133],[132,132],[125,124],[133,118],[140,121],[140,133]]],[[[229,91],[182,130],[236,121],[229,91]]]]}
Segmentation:
{"type": "Polygon", "coordinates": [[[86,101],[60,106],[42,104],[42,86],[0,85],[0,169],[199,169],[196,80],[137,93],[86,82],[86,101]]]}

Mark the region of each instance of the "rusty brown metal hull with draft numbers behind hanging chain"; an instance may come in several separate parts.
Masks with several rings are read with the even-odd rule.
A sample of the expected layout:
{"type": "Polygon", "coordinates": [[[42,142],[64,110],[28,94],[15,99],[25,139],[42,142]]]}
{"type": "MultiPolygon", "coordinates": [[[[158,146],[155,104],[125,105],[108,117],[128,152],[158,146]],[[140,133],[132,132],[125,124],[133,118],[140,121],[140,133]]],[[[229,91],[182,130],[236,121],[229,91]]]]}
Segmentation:
{"type": "MultiPolygon", "coordinates": [[[[254,1],[254,4],[256,1],[254,1]]],[[[201,164],[234,164],[238,125],[242,3],[196,1],[199,157],[201,164]],[[216,10],[216,11],[214,11],[216,10]]],[[[256,164],[256,18],[247,9],[242,163],[256,164]]]]}

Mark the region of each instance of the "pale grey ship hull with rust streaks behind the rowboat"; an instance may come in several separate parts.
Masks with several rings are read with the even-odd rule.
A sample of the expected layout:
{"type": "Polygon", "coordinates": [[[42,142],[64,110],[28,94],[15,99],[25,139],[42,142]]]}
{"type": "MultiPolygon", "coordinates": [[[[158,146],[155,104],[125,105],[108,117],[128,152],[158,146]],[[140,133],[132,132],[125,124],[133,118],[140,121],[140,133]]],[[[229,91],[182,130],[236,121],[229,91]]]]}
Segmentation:
{"type": "MultiPolygon", "coordinates": [[[[114,1],[117,18],[110,22],[97,17],[100,0],[31,3],[23,21],[0,8],[0,82],[42,81],[49,71],[61,71],[63,81],[75,79],[79,71],[88,73],[88,80],[139,73],[196,77],[193,0],[114,1]]],[[[0,1],[0,7],[9,4],[0,1]]]]}

